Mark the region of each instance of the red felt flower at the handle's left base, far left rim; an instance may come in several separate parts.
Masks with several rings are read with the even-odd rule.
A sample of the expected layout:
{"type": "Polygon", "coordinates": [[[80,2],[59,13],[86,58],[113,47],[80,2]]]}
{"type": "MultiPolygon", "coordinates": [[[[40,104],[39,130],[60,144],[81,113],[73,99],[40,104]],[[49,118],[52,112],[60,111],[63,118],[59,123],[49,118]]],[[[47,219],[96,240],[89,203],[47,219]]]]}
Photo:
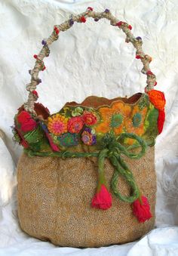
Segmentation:
{"type": "Polygon", "coordinates": [[[32,116],[25,110],[17,116],[17,122],[20,124],[20,130],[23,132],[32,131],[37,127],[37,123],[32,116]]]}

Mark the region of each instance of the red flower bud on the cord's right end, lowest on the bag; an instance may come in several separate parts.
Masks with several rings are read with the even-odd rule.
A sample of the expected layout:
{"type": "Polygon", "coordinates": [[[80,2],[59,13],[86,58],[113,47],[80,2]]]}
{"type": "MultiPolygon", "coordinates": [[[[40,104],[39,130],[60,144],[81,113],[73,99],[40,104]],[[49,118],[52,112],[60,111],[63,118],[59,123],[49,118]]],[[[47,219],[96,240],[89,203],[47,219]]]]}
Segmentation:
{"type": "Polygon", "coordinates": [[[141,198],[135,200],[132,205],[133,214],[137,217],[139,222],[145,222],[152,217],[149,202],[145,196],[141,196],[141,198]]]}

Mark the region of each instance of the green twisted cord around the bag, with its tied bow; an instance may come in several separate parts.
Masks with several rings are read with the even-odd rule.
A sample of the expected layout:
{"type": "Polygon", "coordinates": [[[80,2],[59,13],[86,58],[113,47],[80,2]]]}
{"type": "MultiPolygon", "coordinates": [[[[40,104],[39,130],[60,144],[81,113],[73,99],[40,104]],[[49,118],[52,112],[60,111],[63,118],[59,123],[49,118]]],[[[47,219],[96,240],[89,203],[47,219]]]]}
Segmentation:
{"type": "Polygon", "coordinates": [[[108,133],[105,137],[103,137],[103,141],[101,143],[101,150],[97,152],[91,152],[91,153],[80,153],[80,152],[34,152],[32,150],[26,149],[25,152],[28,154],[28,156],[56,156],[61,157],[63,159],[66,158],[80,158],[80,157],[98,157],[98,171],[99,171],[99,181],[98,181],[98,189],[100,189],[100,184],[106,184],[106,180],[104,177],[104,162],[105,159],[108,158],[112,165],[115,167],[114,174],[112,175],[111,180],[111,189],[112,193],[118,197],[118,199],[121,199],[124,202],[133,202],[135,201],[139,195],[140,191],[137,187],[137,184],[134,180],[132,172],[127,167],[124,160],[121,158],[121,154],[124,154],[130,159],[140,159],[144,153],[146,152],[147,144],[143,140],[143,138],[139,137],[137,134],[129,134],[124,133],[121,134],[119,137],[115,137],[114,134],[108,133]],[[119,141],[124,141],[124,139],[130,138],[133,140],[137,140],[137,147],[141,147],[141,150],[139,153],[133,153],[131,150],[133,150],[134,147],[124,147],[119,143],[119,141]],[[129,149],[129,150],[128,150],[129,149]],[[121,193],[118,191],[118,177],[122,176],[127,181],[127,183],[130,185],[130,188],[132,190],[132,196],[122,196],[121,193]]]}

